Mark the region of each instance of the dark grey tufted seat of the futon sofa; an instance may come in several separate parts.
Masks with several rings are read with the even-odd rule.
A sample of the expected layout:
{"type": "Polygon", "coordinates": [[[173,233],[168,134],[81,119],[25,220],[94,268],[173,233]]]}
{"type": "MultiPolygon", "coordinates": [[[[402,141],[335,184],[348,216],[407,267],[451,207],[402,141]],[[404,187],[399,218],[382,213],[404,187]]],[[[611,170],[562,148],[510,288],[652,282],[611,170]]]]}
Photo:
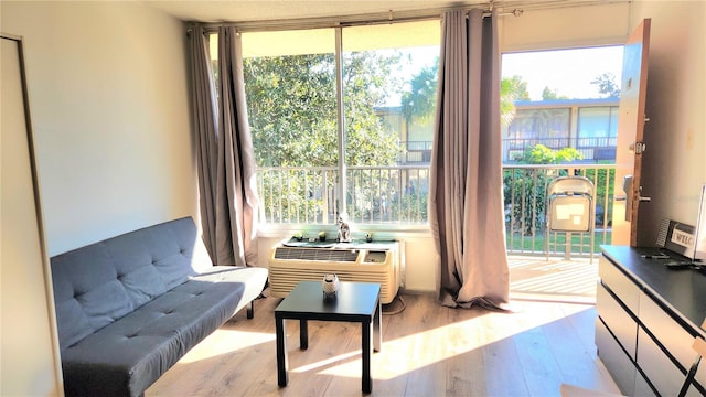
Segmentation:
{"type": "Polygon", "coordinates": [[[190,280],[86,336],[62,351],[66,395],[140,395],[235,314],[244,290],[242,282],[190,280]]]}

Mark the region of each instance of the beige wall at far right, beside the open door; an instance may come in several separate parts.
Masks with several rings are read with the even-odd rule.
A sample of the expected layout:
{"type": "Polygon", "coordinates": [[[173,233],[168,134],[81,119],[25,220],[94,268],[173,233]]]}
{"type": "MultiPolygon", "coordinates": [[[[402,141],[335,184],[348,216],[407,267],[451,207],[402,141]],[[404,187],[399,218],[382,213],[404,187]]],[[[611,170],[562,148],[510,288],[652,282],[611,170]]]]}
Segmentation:
{"type": "Polygon", "coordinates": [[[696,224],[706,183],[706,2],[637,1],[631,26],[651,19],[643,195],[639,244],[654,245],[659,223],[696,224]]]}

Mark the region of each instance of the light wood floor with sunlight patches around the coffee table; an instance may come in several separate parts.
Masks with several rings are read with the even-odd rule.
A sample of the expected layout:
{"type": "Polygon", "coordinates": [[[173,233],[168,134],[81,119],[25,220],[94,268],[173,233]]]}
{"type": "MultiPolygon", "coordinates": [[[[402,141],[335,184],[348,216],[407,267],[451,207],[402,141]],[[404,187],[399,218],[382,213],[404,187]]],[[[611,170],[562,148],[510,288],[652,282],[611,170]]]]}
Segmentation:
{"type": "MultiPolygon", "coordinates": [[[[431,294],[403,298],[404,311],[383,316],[373,396],[558,396],[561,383],[617,391],[596,360],[593,305],[514,300],[513,312],[499,313],[442,308],[431,294]]],[[[238,313],[146,396],[360,396],[353,323],[310,322],[309,350],[300,351],[298,322],[288,321],[289,385],[277,386],[279,301],[257,300],[253,320],[238,313]]]]}

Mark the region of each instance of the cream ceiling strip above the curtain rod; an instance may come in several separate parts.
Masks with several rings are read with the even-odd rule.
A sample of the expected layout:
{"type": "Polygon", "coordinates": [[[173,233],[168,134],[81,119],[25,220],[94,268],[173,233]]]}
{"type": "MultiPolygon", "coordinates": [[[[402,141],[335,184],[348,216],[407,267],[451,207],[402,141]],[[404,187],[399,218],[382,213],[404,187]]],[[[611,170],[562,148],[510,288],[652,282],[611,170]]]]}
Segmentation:
{"type": "MultiPolygon", "coordinates": [[[[563,0],[571,1],[571,0],[563,0]]],[[[367,14],[389,14],[440,10],[458,6],[488,7],[488,1],[449,0],[392,0],[392,1],[302,1],[302,0],[145,0],[145,3],[160,9],[183,21],[197,22],[253,22],[295,19],[320,19],[367,14]]],[[[495,3],[500,4],[501,1],[495,3]]],[[[517,3],[517,1],[514,1],[517,3]]]]}

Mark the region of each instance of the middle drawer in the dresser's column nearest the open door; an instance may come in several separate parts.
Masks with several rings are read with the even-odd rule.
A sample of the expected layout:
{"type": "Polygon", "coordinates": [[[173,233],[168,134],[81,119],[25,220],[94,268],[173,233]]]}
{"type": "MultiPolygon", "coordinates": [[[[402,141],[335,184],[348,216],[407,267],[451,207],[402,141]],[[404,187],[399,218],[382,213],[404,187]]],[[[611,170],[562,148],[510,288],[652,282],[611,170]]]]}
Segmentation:
{"type": "Polygon", "coordinates": [[[630,358],[634,361],[638,343],[638,323],[601,283],[598,283],[596,288],[596,309],[606,326],[628,352],[630,358]]]}

